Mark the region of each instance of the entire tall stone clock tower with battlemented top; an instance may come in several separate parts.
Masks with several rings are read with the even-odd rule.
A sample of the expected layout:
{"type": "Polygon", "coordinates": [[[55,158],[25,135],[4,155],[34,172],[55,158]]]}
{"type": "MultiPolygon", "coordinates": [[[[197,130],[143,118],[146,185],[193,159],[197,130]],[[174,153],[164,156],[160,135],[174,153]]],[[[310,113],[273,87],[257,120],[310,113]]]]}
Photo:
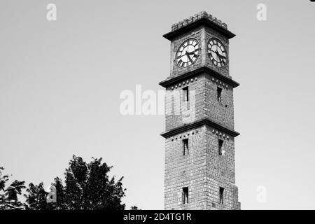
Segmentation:
{"type": "Polygon", "coordinates": [[[165,209],[240,209],[225,23],[202,12],[172,25],[166,88],[165,209]]]}

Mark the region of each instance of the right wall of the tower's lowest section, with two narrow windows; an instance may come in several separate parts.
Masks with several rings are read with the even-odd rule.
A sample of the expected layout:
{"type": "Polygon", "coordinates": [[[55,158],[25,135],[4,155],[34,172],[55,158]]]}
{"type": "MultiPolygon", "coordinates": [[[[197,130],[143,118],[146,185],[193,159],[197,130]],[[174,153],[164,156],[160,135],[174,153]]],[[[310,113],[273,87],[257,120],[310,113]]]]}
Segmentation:
{"type": "Polygon", "coordinates": [[[207,127],[206,142],[207,209],[238,209],[234,138],[212,127],[207,127]],[[218,139],[223,140],[223,155],[218,153],[218,139]],[[224,188],[223,204],[219,200],[220,187],[224,188]]]}

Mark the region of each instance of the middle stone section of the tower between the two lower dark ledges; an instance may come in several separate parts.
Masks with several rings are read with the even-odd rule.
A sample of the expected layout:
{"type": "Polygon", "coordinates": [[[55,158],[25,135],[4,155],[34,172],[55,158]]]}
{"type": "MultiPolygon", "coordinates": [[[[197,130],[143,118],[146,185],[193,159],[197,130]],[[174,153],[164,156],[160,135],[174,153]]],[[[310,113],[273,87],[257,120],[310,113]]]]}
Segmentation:
{"type": "Polygon", "coordinates": [[[233,108],[232,86],[206,74],[188,78],[187,80],[183,80],[167,87],[167,97],[165,99],[166,131],[205,118],[208,118],[223,127],[227,127],[230,130],[234,130],[233,108]],[[195,111],[190,112],[193,113],[194,118],[192,120],[183,119],[183,113],[181,111],[181,104],[183,104],[184,101],[183,92],[181,91],[183,87],[188,87],[190,92],[190,102],[188,102],[190,107],[188,109],[193,110],[195,107],[195,111]],[[218,102],[217,99],[217,87],[223,89],[221,93],[221,102],[218,102]],[[181,94],[181,96],[177,98],[177,102],[176,97],[174,96],[174,92],[176,91],[178,91],[177,94],[181,94]],[[191,97],[193,91],[195,91],[195,102],[193,102],[193,97],[191,97]],[[179,111],[177,111],[179,113],[176,113],[176,107],[179,109],[179,111]]]}

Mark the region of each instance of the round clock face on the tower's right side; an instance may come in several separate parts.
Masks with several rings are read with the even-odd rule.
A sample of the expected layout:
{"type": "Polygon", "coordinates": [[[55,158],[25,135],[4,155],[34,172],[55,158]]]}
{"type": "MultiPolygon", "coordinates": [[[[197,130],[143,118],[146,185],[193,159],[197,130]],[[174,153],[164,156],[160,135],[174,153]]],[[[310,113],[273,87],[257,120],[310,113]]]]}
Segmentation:
{"type": "Polygon", "coordinates": [[[223,67],[228,63],[228,52],[221,41],[211,38],[208,42],[208,55],[211,62],[218,67],[223,67]]]}

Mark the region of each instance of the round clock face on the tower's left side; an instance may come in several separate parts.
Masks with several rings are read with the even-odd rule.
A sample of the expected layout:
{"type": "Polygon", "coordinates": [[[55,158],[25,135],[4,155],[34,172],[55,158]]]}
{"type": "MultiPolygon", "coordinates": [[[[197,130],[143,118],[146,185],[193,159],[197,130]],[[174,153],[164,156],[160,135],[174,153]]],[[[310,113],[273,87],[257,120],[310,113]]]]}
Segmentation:
{"type": "Polygon", "coordinates": [[[187,67],[195,63],[200,53],[200,46],[195,39],[188,39],[181,44],[176,53],[176,62],[181,67],[187,67]]]}

